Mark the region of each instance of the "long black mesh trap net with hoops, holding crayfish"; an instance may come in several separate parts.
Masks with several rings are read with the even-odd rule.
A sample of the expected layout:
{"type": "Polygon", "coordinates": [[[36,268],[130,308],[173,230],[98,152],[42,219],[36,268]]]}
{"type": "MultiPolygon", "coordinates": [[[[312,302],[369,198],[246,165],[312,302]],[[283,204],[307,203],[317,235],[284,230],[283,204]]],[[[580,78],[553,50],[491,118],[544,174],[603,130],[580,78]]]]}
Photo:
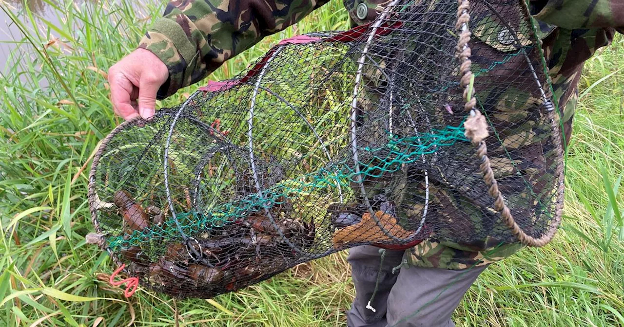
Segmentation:
{"type": "Polygon", "coordinates": [[[100,245],[143,285],[210,298],[356,245],[544,245],[557,106],[522,1],[394,0],[286,39],[99,148],[100,245]]]}

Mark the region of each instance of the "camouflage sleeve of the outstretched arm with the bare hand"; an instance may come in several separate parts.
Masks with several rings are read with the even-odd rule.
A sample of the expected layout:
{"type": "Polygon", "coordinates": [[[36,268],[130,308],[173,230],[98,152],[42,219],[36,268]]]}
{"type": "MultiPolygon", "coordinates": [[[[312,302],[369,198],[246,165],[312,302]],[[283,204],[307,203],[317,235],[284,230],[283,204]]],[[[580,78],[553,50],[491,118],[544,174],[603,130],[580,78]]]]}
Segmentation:
{"type": "Polygon", "coordinates": [[[168,67],[158,98],[196,83],[328,0],[175,0],[140,41],[168,67]]]}

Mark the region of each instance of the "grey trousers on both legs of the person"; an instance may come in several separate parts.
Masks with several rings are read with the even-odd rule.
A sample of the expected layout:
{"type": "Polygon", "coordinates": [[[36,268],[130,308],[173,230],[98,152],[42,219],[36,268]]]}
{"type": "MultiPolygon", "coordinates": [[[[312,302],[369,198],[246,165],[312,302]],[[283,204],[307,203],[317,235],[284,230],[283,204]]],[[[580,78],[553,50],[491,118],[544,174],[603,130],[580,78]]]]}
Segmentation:
{"type": "Polygon", "coordinates": [[[356,296],[347,311],[347,326],[455,326],[451,320],[453,311],[486,266],[464,270],[403,266],[392,274],[404,253],[386,250],[378,290],[371,302],[376,309],[373,312],[366,305],[379,273],[379,248],[363,245],[349,250],[347,260],[351,263],[356,296]]]}

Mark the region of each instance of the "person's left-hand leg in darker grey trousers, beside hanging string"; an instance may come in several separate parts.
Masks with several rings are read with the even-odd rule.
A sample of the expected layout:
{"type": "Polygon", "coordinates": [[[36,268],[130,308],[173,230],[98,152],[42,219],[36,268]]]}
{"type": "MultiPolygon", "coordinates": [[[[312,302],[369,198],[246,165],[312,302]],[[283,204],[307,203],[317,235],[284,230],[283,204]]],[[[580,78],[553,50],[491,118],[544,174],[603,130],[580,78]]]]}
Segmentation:
{"type": "Polygon", "coordinates": [[[380,272],[381,254],[379,254],[378,247],[362,245],[349,250],[347,260],[351,264],[351,277],[356,292],[351,310],[346,313],[348,327],[386,327],[386,310],[388,308],[386,303],[392,285],[399,275],[399,272],[393,275],[392,268],[401,264],[404,252],[403,250],[386,250],[380,272]],[[373,312],[367,309],[366,305],[373,295],[378,273],[381,275],[379,275],[377,293],[373,303],[371,303],[376,310],[373,312]]]}

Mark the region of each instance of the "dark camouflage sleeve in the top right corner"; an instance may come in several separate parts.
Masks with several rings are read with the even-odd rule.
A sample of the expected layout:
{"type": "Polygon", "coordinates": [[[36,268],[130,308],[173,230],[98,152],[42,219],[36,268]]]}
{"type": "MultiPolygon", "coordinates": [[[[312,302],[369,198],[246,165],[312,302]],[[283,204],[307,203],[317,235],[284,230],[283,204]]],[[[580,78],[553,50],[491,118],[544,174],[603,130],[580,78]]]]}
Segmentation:
{"type": "Polygon", "coordinates": [[[615,27],[624,31],[624,0],[538,0],[535,19],[564,29],[615,27]]]}

